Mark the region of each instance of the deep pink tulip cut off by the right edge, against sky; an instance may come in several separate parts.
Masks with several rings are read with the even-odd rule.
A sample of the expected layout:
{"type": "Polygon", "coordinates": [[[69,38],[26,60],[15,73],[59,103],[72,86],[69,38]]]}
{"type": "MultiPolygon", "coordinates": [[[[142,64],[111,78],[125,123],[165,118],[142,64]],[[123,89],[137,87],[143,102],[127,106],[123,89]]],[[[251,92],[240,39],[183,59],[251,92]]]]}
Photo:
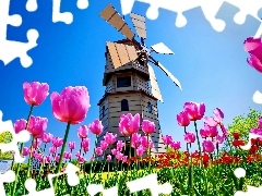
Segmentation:
{"type": "Polygon", "coordinates": [[[248,63],[262,73],[262,40],[261,38],[249,37],[243,42],[243,48],[249,52],[248,63]]]}

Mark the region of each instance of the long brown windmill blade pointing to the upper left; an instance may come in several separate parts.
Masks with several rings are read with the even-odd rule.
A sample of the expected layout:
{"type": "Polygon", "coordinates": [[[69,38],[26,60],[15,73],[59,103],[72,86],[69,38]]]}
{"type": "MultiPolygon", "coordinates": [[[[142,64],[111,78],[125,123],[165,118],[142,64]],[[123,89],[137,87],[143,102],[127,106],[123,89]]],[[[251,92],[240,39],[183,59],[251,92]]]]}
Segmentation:
{"type": "Polygon", "coordinates": [[[117,10],[111,5],[108,4],[100,13],[99,15],[110,23],[118,32],[123,34],[127,38],[130,40],[133,39],[134,33],[131,30],[131,28],[128,26],[128,24],[123,21],[123,19],[120,16],[120,14],[117,12],[117,10]]]}

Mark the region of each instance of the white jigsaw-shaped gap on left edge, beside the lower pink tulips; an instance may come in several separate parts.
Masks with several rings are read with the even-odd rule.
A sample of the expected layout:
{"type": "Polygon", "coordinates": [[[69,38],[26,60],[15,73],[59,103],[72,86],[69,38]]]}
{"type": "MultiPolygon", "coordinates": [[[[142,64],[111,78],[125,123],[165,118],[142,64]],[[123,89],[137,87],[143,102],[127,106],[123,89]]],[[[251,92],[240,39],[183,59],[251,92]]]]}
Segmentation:
{"type": "Polygon", "coordinates": [[[12,142],[8,144],[0,144],[0,149],[5,152],[5,151],[14,151],[14,161],[15,162],[23,162],[25,160],[24,157],[20,155],[20,149],[17,146],[17,143],[26,143],[29,140],[31,135],[28,131],[24,130],[21,131],[20,133],[14,132],[13,123],[12,121],[2,121],[2,111],[0,110],[0,133],[9,131],[12,134],[12,142]]]}

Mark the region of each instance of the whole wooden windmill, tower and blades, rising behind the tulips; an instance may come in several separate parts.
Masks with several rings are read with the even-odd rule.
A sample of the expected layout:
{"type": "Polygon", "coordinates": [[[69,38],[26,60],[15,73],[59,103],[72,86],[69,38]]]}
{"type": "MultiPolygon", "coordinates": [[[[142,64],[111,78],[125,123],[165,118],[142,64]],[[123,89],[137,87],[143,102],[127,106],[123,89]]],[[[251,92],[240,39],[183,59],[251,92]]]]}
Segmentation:
{"type": "MultiPolygon", "coordinates": [[[[106,90],[98,101],[99,120],[103,122],[104,132],[98,137],[97,145],[104,139],[106,132],[117,134],[118,140],[124,140],[118,130],[120,114],[140,113],[142,120],[153,121],[156,125],[155,133],[150,137],[154,143],[152,155],[163,154],[166,150],[157,109],[157,101],[163,102],[163,98],[154,70],[148,63],[160,68],[181,89],[179,81],[151,56],[152,52],[172,54],[172,51],[163,42],[152,46],[151,49],[145,46],[145,17],[141,15],[130,14],[141,44],[134,39],[135,34],[111,4],[100,12],[100,16],[127,38],[114,42],[108,41],[106,45],[106,66],[103,79],[106,90]]],[[[142,130],[139,133],[143,135],[142,130]]],[[[124,154],[129,155],[128,146],[124,154]]],[[[134,151],[131,154],[134,155],[134,151]]]]}

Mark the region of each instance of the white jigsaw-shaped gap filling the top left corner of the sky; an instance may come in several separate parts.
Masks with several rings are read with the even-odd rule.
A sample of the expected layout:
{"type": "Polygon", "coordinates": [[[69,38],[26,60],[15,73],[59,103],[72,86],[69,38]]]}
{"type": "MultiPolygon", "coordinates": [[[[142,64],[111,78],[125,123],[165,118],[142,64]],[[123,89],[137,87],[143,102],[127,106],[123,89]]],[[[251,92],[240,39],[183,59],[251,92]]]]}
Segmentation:
{"type": "Polygon", "coordinates": [[[22,17],[17,14],[9,15],[10,0],[0,1],[0,60],[4,65],[20,58],[20,62],[24,68],[32,65],[33,60],[27,56],[27,51],[37,46],[38,32],[36,29],[27,30],[28,42],[20,42],[7,40],[8,25],[20,26],[22,17]]]}

